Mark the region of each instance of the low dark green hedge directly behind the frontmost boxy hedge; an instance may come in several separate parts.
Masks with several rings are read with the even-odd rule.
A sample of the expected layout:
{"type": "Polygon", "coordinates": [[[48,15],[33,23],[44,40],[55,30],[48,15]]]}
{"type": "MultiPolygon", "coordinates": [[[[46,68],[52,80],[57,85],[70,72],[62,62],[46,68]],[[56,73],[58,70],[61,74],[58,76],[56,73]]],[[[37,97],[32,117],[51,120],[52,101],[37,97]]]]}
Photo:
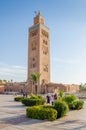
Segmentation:
{"type": "Polygon", "coordinates": [[[45,99],[30,99],[30,98],[24,98],[22,100],[22,104],[25,106],[37,106],[37,105],[43,105],[45,103],[45,99]]]}

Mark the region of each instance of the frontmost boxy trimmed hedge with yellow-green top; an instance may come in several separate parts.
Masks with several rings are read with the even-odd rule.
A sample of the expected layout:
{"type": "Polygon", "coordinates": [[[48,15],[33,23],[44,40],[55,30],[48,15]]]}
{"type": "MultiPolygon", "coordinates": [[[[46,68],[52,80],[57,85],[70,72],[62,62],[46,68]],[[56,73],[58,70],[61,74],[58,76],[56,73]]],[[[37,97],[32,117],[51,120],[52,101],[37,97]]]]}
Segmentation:
{"type": "Polygon", "coordinates": [[[26,115],[33,119],[47,119],[53,121],[57,118],[57,111],[53,108],[45,108],[43,106],[33,106],[26,109],[26,115]]]}

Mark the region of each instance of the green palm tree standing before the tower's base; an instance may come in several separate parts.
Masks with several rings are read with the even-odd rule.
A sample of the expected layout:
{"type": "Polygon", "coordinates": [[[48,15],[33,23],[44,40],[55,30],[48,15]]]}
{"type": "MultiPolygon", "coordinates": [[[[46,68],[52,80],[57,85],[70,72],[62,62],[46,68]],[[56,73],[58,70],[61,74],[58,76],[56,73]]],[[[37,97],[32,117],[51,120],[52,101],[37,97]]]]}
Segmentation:
{"type": "Polygon", "coordinates": [[[35,85],[36,95],[37,95],[37,86],[38,86],[39,78],[40,78],[40,73],[35,72],[35,73],[32,73],[32,74],[31,74],[31,79],[33,80],[33,83],[34,83],[34,85],[35,85]]]}

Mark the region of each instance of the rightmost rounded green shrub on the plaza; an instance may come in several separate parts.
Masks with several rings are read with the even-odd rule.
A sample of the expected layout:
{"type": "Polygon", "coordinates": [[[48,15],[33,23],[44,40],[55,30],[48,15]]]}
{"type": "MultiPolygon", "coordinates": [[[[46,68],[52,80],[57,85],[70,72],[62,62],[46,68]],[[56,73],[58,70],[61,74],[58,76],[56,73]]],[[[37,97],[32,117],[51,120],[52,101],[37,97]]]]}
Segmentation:
{"type": "Polygon", "coordinates": [[[83,105],[84,105],[84,101],[81,101],[81,100],[73,101],[70,104],[70,109],[72,109],[72,110],[79,110],[79,109],[83,108],[83,105]]]}

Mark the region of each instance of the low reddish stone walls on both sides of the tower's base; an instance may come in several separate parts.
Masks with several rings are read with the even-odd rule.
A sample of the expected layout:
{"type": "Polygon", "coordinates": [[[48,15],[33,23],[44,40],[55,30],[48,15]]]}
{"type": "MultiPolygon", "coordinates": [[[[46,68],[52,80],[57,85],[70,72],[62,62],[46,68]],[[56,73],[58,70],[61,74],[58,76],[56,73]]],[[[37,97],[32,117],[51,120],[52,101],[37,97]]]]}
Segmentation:
{"type": "MultiPolygon", "coordinates": [[[[61,90],[67,93],[76,93],[79,92],[79,85],[48,83],[42,86],[41,93],[59,93],[61,90]]],[[[24,92],[30,94],[31,92],[35,93],[35,88],[33,85],[31,87],[27,82],[5,83],[0,85],[0,93],[3,94],[4,92],[24,92]]]]}

